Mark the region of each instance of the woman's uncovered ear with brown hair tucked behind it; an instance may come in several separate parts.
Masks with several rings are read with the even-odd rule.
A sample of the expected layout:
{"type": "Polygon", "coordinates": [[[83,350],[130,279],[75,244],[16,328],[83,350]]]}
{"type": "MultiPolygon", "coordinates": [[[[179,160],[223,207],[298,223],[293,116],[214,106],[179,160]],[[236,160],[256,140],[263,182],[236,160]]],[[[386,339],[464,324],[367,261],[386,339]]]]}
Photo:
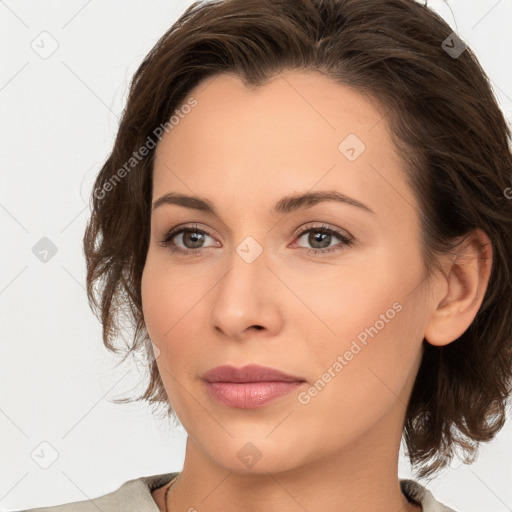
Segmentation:
{"type": "Polygon", "coordinates": [[[466,331],[482,304],[491,268],[491,241],[484,231],[474,229],[461,239],[433,288],[433,310],[424,334],[428,343],[447,345],[466,331]]]}

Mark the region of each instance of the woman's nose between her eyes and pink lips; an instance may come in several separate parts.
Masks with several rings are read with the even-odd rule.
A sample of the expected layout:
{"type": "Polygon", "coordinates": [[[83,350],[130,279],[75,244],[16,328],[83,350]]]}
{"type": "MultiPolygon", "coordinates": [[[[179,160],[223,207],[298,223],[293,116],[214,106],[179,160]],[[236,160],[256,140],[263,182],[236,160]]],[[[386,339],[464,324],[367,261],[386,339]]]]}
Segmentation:
{"type": "Polygon", "coordinates": [[[286,290],[263,251],[254,261],[233,253],[213,297],[213,328],[236,340],[275,336],[282,328],[286,290]]]}

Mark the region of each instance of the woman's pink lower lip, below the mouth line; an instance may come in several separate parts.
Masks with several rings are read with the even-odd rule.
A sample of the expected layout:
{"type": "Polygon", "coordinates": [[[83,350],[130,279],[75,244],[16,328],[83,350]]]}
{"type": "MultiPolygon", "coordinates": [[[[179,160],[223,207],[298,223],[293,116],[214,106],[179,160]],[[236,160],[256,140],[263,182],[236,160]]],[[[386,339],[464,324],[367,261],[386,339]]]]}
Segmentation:
{"type": "Polygon", "coordinates": [[[304,382],[206,382],[210,396],[217,402],[230,407],[254,409],[263,407],[280,398],[304,382]]]}

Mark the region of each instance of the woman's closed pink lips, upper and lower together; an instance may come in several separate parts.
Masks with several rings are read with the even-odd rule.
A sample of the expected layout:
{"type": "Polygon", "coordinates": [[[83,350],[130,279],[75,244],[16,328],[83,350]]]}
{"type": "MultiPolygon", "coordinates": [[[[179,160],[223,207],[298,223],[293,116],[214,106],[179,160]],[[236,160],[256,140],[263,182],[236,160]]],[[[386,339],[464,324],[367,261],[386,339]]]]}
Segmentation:
{"type": "Polygon", "coordinates": [[[305,379],[265,366],[217,366],[202,378],[210,396],[222,405],[241,409],[263,407],[291,393],[305,379]]]}

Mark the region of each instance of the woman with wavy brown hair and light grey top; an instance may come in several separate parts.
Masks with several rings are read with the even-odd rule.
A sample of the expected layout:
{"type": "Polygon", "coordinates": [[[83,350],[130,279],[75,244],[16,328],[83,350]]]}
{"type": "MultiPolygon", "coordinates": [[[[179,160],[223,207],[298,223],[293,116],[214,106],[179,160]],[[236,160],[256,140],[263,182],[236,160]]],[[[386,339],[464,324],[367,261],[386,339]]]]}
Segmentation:
{"type": "MultiPolygon", "coordinates": [[[[510,133],[413,0],[197,3],[136,72],[84,237],[183,470],[43,510],[453,510],[512,372],[510,133]]],[[[36,509],[34,509],[36,510],[36,509]]]]}

